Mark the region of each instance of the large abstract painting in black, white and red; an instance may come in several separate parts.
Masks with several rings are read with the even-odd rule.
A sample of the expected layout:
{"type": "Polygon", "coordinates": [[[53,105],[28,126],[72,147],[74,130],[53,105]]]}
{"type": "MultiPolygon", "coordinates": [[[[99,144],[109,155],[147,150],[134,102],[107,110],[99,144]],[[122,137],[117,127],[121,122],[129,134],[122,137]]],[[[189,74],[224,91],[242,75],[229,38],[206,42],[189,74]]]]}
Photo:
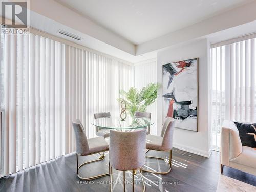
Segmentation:
{"type": "Polygon", "coordinates": [[[198,58],[163,65],[163,118],[177,128],[198,131],[198,58]]]}

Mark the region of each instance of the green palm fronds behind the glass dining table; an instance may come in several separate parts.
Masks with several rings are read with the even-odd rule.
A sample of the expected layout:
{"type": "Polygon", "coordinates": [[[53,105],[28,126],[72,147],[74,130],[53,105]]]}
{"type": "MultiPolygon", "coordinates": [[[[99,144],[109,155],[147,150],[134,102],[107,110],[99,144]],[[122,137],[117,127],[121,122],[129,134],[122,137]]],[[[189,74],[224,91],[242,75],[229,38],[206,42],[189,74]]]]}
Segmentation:
{"type": "Polygon", "coordinates": [[[160,84],[151,82],[140,90],[135,87],[131,87],[127,92],[119,90],[120,98],[118,98],[118,102],[121,103],[124,100],[127,112],[134,116],[135,111],[144,112],[147,106],[156,101],[159,87],[160,84]]]}

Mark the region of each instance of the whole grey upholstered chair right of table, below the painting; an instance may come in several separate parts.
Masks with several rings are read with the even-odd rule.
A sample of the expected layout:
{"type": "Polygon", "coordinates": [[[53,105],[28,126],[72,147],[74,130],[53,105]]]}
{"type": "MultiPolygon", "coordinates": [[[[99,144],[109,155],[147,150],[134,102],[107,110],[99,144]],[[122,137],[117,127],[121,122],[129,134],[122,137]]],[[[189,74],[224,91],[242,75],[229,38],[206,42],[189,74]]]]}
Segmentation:
{"type": "MultiPolygon", "coordinates": [[[[164,121],[161,136],[147,135],[146,136],[146,148],[148,150],[155,151],[168,151],[169,152],[169,169],[166,172],[155,172],[152,170],[143,170],[143,172],[150,172],[156,174],[167,174],[172,169],[172,148],[173,148],[173,133],[175,127],[175,119],[167,117],[164,121]]],[[[147,158],[162,159],[164,158],[146,156],[147,158]]]]}

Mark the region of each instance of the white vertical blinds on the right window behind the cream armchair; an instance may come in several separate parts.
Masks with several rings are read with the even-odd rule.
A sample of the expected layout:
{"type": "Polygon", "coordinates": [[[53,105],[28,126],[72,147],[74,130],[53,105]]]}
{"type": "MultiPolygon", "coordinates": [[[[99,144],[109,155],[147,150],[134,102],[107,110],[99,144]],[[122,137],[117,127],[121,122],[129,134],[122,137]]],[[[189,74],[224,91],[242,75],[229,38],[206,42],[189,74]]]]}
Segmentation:
{"type": "Polygon", "coordinates": [[[211,49],[212,147],[220,150],[224,119],[256,122],[255,39],[211,49]]]}

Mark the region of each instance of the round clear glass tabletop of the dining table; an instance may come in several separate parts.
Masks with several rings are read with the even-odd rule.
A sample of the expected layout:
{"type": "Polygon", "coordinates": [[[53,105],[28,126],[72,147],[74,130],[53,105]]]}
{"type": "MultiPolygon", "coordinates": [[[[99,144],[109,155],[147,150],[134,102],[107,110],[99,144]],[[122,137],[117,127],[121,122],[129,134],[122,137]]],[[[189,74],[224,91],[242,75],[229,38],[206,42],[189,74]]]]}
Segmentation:
{"type": "Polygon", "coordinates": [[[92,124],[105,129],[128,130],[147,128],[148,126],[154,124],[154,122],[145,117],[127,116],[124,121],[122,121],[120,117],[103,117],[93,120],[92,124]]]}

